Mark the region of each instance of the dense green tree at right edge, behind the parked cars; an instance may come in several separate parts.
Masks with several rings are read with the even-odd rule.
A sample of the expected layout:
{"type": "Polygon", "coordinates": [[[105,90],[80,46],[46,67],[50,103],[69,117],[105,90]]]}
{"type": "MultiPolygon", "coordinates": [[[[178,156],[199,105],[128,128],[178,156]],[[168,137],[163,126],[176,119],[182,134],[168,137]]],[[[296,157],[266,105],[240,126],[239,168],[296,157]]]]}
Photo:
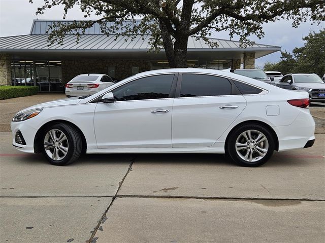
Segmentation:
{"type": "Polygon", "coordinates": [[[280,71],[282,74],[316,73],[322,76],[325,73],[325,30],[310,32],[303,40],[303,47],[295,48],[293,54],[281,52],[279,62],[266,62],[263,69],[280,71]]]}

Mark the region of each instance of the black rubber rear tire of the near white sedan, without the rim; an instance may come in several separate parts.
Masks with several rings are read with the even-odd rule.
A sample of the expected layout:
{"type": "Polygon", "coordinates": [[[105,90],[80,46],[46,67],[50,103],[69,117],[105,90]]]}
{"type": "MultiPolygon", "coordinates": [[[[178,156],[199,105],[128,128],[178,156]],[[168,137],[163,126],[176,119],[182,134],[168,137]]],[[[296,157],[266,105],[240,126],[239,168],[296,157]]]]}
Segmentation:
{"type": "MultiPolygon", "coordinates": [[[[254,132],[252,132],[252,136],[254,136],[254,132]]],[[[249,145],[247,145],[247,147],[248,146],[249,145]]],[[[228,157],[230,157],[233,161],[235,161],[235,163],[237,163],[240,166],[244,166],[244,167],[258,167],[258,166],[263,165],[264,163],[266,163],[266,161],[268,161],[270,159],[270,157],[273,154],[273,151],[274,151],[274,138],[273,138],[271,132],[267,128],[265,128],[264,126],[259,125],[259,124],[246,124],[246,125],[238,127],[236,130],[234,130],[230,134],[228,142],[227,142],[227,146],[226,146],[226,155],[228,157]],[[246,150],[244,150],[244,149],[240,150],[240,153],[243,153],[243,154],[245,154],[245,151],[248,152],[248,149],[255,150],[255,151],[251,152],[252,155],[255,154],[257,156],[254,159],[261,157],[257,161],[247,161],[247,160],[243,159],[242,157],[239,156],[239,154],[237,153],[237,150],[236,150],[237,139],[240,139],[240,136],[245,131],[250,131],[250,130],[254,130],[254,131],[258,131],[259,133],[262,133],[267,139],[266,142],[268,142],[268,149],[267,149],[267,152],[264,155],[264,157],[259,156],[257,154],[256,148],[255,148],[256,146],[253,148],[246,148],[246,150]]]]}

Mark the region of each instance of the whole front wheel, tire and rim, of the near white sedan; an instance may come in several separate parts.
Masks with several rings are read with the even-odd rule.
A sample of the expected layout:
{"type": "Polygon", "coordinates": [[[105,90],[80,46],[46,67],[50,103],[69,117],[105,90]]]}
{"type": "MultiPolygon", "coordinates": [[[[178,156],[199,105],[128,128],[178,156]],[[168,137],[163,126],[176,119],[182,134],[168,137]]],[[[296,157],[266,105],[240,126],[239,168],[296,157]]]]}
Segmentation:
{"type": "Polygon", "coordinates": [[[78,131],[67,124],[54,124],[43,134],[43,154],[52,165],[64,166],[75,161],[82,150],[78,131]]]}

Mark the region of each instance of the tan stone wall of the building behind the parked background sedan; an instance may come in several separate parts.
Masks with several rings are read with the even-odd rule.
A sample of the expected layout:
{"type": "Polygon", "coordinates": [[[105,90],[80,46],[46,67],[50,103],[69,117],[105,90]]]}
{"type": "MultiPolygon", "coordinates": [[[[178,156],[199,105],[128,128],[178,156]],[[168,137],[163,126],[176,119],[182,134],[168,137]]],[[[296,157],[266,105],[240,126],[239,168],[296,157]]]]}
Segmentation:
{"type": "Polygon", "coordinates": [[[139,72],[150,70],[148,60],[62,60],[62,83],[68,83],[82,73],[108,74],[108,67],[115,66],[115,78],[123,79],[132,75],[132,67],[139,67],[139,72]]]}

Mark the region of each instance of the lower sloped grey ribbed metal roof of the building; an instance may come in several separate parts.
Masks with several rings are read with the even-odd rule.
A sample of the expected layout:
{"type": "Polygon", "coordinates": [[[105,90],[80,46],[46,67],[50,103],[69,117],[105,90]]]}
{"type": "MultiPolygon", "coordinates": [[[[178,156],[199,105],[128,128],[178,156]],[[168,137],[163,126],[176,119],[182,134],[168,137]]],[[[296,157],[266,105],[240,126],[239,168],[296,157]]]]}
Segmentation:
{"type": "MultiPolygon", "coordinates": [[[[132,52],[132,51],[147,51],[149,45],[150,35],[136,35],[132,40],[131,37],[104,35],[104,34],[86,34],[82,35],[77,43],[77,37],[73,34],[66,35],[63,39],[63,44],[54,44],[48,46],[47,34],[29,34],[0,37],[0,51],[119,51],[119,52],[132,52]],[[116,40],[115,40],[116,38],[116,40]]],[[[240,48],[240,43],[225,39],[209,38],[211,42],[217,43],[217,48],[211,48],[205,43],[203,39],[196,39],[190,36],[188,39],[188,51],[280,51],[281,47],[254,44],[247,48],[240,48]]]]}

